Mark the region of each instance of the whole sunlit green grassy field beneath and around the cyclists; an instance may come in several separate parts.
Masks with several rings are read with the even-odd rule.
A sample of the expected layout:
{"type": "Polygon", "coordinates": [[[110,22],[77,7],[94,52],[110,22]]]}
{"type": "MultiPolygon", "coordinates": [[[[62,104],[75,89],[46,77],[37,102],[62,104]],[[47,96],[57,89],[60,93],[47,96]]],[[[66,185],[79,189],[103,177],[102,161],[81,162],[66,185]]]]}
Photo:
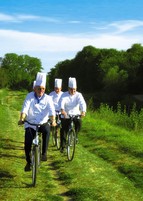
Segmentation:
{"type": "Polygon", "coordinates": [[[17,125],[25,95],[0,91],[0,200],[143,201],[143,130],[121,126],[122,117],[107,108],[83,119],[72,162],[50,142],[32,187],[24,172],[24,129],[17,125]]]}

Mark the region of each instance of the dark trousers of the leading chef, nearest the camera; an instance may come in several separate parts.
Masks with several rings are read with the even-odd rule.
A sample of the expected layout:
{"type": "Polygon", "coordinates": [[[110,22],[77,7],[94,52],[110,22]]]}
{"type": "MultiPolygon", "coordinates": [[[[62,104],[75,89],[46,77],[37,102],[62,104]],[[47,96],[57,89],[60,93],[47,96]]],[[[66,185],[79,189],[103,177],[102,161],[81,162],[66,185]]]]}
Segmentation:
{"type": "MultiPolygon", "coordinates": [[[[38,129],[38,132],[42,133],[42,154],[47,154],[49,139],[50,139],[49,124],[43,124],[42,126],[40,126],[38,129]]],[[[32,141],[34,139],[35,134],[36,134],[36,131],[33,128],[29,127],[25,129],[24,150],[25,150],[26,161],[28,163],[31,162],[30,152],[31,152],[32,141]]]]}

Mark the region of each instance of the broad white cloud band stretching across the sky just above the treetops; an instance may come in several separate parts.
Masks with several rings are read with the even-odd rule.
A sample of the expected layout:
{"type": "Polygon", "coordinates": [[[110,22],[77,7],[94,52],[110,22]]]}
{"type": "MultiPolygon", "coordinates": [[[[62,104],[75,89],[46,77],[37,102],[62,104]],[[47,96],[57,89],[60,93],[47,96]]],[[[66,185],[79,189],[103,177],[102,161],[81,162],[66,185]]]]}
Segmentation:
{"type": "MultiPolygon", "coordinates": [[[[25,17],[23,16],[21,18],[24,19],[25,17]]],[[[9,18],[9,20],[12,19],[9,18]]],[[[108,28],[112,27],[112,31],[108,29],[106,32],[103,30],[100,33],[79,33],[76,35],[38,34],[1,29],[0,57],[6,53],[28,54],[29,56],[41,59],[43,67],[46,71],[49,71],[59,61],[72,59],[78,51],[81,51],[87,45],[92,45],[97,48],[125,50],[130,48],[134,43],[143,44],[142,34],[137,32],[131,35],[129,32],[136,27],[142,26],[142,21],[114,22],[108,25],[108,28]],[[118,31],[115,31],[115,27],[118,31]],[[123,34],[125,31],[126,35],[123,34]]]]}

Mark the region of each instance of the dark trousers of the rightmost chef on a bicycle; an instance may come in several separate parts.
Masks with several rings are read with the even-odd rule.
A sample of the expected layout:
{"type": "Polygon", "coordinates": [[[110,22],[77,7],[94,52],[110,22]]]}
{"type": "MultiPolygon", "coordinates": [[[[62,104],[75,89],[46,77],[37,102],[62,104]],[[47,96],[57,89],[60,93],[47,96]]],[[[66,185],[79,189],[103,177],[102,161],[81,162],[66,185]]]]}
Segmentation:
{"type": "MultiPolygon", "coordinates": [[[[66,136],[67,136],[67,132],[69,130],[69,124],[70,124],[70,119],[64,119],[61,118],[61,147],[65,147],[66,145],[66,136]]],[[[76,132],[76,136],[78,134],[78,132],[81,129],[81,119],[74,119],[74,127],[75,127],[75,132],[76,132]]]]}

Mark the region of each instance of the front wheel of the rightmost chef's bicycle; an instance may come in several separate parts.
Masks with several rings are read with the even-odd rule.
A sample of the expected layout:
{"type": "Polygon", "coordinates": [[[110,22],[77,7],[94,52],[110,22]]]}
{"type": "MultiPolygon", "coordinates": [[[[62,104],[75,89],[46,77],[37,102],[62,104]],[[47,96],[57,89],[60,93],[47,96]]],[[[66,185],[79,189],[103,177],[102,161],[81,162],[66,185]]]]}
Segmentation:
{"type": "Polygon", "coordinates": [[[76,134],[75,131],[72,129],[67,134],[67,158],[69,161],[73,160],[74,153],[75,153],[75,143],[76,143],[76,134]]]}

